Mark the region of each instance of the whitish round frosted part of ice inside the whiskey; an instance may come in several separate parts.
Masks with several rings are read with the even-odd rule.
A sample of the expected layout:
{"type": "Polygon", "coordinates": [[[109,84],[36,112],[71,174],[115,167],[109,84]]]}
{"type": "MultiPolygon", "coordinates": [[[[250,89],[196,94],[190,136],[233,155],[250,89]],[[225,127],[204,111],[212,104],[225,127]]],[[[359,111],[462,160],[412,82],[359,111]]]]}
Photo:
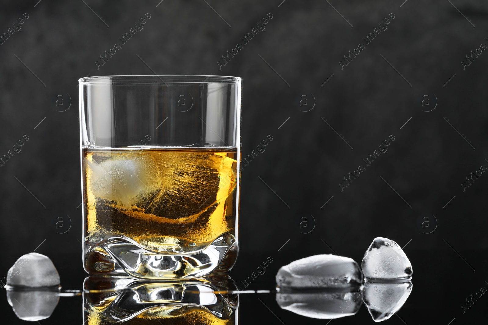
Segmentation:
{"type": "Polygon", "coordinates": [[[86,160],[91,175],[91,190],[96,197],[116,201],[125,208],[161,190],[156,161],[150,154],[123,153],[98,164],[86,160]]]}

